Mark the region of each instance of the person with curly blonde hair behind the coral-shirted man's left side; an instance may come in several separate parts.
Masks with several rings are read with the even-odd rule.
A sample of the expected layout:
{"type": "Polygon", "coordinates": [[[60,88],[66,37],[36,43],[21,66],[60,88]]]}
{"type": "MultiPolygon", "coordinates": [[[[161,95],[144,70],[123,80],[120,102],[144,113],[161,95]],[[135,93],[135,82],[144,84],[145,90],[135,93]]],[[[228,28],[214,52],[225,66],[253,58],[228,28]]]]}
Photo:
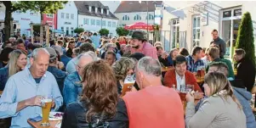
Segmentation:
{"type": "Polygon", "coordinates": [[[112,67],[117,78],[117,91],[121,94],[125,79],[134,73],[135,63],[132,58],[121,57],[112,67]]]}

